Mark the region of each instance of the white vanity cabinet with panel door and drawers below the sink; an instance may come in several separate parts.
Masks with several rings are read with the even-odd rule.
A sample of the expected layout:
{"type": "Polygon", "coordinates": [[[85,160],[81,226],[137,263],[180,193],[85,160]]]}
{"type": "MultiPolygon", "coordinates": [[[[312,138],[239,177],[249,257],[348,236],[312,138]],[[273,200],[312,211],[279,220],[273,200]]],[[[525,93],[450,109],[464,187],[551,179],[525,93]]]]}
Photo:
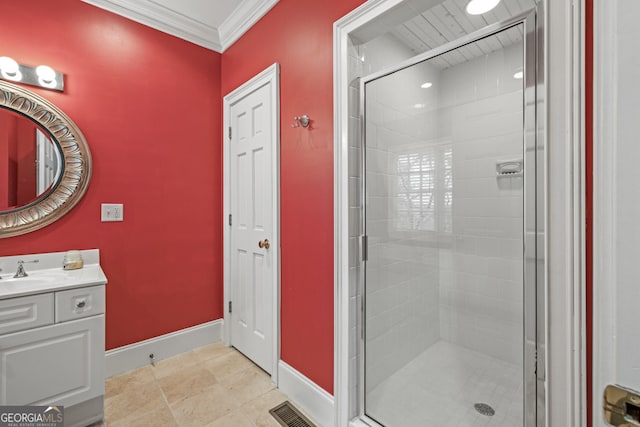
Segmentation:
{"type": "Polygon", "coordinates": [[[98,279],[69,272],[26,295],[34,279],[0,280],[0,405],[64,406],[65,426],[103,418],[106,278],[95,268],[98,279]]]}

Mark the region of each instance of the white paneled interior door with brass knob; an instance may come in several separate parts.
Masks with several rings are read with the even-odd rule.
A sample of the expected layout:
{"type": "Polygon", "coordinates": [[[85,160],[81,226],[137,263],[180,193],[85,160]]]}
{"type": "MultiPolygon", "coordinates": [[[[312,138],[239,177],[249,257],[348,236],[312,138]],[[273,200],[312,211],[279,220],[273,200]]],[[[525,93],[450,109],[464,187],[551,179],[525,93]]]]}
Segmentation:
{"type": "Polygon", "coordinates": [[[273,368],[277,233],[273,179],[275,111],[271,83],[229,107],[231,344],[265,371],[273,368]]]}

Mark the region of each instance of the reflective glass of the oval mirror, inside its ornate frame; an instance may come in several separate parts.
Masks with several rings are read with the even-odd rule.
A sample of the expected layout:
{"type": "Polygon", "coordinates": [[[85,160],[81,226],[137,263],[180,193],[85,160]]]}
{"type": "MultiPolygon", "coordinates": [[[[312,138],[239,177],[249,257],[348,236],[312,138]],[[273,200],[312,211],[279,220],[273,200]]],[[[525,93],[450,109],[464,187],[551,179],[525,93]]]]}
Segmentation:
{"type": "Polygon", "coordinates": [[[62,152],[30,118],[0,108],[0,211],[35,203],[62,176],[62,152]]]}

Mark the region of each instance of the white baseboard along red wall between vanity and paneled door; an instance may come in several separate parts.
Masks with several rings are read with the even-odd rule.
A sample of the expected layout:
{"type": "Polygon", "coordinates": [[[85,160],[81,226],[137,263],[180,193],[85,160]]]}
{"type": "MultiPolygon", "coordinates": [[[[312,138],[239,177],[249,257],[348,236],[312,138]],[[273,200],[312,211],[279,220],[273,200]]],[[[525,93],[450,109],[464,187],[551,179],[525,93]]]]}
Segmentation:
{"type": "Polygon", "coordinates": [[[222,319],[139,341],[105,353],[105,375],[119,375],[149,364],[149,354],[159,361],[222,339],[222,319]]]}

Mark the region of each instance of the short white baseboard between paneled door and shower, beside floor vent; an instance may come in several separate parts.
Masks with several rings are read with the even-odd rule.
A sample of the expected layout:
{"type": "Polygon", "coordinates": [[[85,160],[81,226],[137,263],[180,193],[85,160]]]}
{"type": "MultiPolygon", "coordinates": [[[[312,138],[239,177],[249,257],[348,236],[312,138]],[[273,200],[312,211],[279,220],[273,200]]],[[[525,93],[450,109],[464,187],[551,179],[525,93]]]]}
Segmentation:
{"type": "Polygon", "coordinates": [[[278,363],[278,388],[318,425],[335,426],[333,396],[282,360],[278,363]]]}

